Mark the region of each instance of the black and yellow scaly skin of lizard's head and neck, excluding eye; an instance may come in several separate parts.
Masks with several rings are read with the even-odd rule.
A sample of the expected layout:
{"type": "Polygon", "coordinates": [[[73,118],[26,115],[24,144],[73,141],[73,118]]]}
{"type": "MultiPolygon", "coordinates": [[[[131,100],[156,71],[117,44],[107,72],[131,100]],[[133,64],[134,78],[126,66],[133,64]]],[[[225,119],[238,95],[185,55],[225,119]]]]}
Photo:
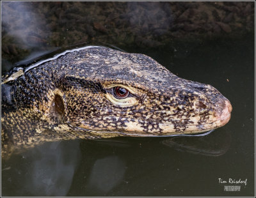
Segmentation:
{"type": "Polygon", "coordinates": [[[212,86],[106,47],[69,52],[6,79],[3,155],[45,141],[200,133],[225,125],[232,110],[212,86]],[[129,95],[116,98],[116,87],[129,95]]]}

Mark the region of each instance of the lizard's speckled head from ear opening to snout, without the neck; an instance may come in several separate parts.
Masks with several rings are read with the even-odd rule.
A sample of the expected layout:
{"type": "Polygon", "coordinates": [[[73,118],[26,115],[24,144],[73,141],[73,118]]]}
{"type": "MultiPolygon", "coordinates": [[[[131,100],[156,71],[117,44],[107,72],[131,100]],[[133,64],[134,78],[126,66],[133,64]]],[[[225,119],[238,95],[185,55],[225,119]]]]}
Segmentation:
{"type": "Polygon", "coordinates": [[[60,61],[65,59],[72,67],[58,71],[51,107],[74,131],[177,135],[212,130],[230,119],[232,106],[217,89],[181,79],[143,54],[94,47],[60,61]]]}

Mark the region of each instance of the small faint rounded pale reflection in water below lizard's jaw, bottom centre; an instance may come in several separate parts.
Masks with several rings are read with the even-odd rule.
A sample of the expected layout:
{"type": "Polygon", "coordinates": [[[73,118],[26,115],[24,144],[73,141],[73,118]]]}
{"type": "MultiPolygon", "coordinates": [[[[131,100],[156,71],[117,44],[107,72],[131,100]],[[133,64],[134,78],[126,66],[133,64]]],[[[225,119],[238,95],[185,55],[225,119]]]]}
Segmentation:
{"type": "Polygon", "coordinates": [[[125,164],[117,156],[107,156],[96,160],[93,165],[88,187],[96,188],[104,194],[122,181],[125,164]]]}

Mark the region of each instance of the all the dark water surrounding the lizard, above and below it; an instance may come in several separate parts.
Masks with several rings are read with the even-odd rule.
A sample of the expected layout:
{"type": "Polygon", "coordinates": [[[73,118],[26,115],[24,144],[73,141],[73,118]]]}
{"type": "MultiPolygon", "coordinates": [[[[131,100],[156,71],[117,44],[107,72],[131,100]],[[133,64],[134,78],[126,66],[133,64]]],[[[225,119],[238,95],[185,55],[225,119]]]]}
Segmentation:
{"type": "Polygon", "coordinates": [[[243,19],[236,27],[234,13],[222,9],[228,3],[198,3],[198,13],[202,13],[200,8],[221,8],[221,15],[210,19],[225,21],[232,31],[234,27],[244,32],[235,35],[227,33],[228,26],[223,22],[218,21],[221,26],[216,26],[214,21],[199,19],[196,13],[191,21],[185,13],[195,9],[196,3],[117,3],[105,7],[100,3],[52,4],[2,5],[2,72],[12,68],[15,61],[26,63],[30,57],[63,46],[104,41],[127,52],[147,54],[179,77],[211,84],[232,103],[232,116],[227,125],[204,137],[47,142],[2,160],[2,195],[253,196],[255,51],[254,33],[246,32],[254,24],[250,19],[254,5],[230,3],[230,8],[236,8],[236,19],[243,19]],[[93,6],[108,15],[100,15],[93,6]],[[108,9],[114,13],[109,14],[108,9]],[[120,14],[125,9],[123,18],[117,19],[115,11],[120,14]],[[244,17],[247,14],[249,17],[244,17]],[[108,24],[102,26],[106,21],[108,24]],[[191,29],[194,22],[199,24],[198,29],[191,29]],[[207,30],[205,24],[213,27],[207,30]],[[220,34],[210,38],[200,31],[207,36],[220,34]],[[189,37],[191,33],[193,37],[189,37]],[[225,192],[229,184],[219,181],[229,178],[247,179],[247,183],[237,184],[239,192],[225,192]]]}

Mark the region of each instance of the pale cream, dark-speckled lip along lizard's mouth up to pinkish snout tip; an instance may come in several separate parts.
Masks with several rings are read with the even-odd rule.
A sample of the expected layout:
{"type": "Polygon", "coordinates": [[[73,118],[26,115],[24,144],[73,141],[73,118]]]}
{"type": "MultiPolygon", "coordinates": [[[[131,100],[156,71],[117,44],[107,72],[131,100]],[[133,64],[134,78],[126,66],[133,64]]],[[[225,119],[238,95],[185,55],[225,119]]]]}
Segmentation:
{"type": "Polygon", "coordinates": [[[231,116],[230,112],[232,111],[232,106],[228,100],[225,100],[225,102],[222,103],[221,107],[221,110],[214,114],[214,119],[211,122],[206,122],[201,125],[196,123],[187,123],[185,125],[179,122],[157,123],[157,121],[145,121],[142,119],[126,119],[115,116],[108,116],[102,118],[105,120],[104,123],[108,123],[108,121],[110,121],[109,124],[104,128],[100,126],[93,126],[93,123],[95,123],[95,121],[88,125],[88,120],[81,121],[81,125],[79,126],[79,128],[83,128],[84,130],[97,133],[100,136],[102,136],[104,133],[145,137],[162,137],[186,134],[196,135],[198,133],[204,133],[210,130],[214,130],[215,128],[218,128],[228,123],[231,116]],[[124,123],[120,123],[120,120],[124,120],[124,123]]]}

